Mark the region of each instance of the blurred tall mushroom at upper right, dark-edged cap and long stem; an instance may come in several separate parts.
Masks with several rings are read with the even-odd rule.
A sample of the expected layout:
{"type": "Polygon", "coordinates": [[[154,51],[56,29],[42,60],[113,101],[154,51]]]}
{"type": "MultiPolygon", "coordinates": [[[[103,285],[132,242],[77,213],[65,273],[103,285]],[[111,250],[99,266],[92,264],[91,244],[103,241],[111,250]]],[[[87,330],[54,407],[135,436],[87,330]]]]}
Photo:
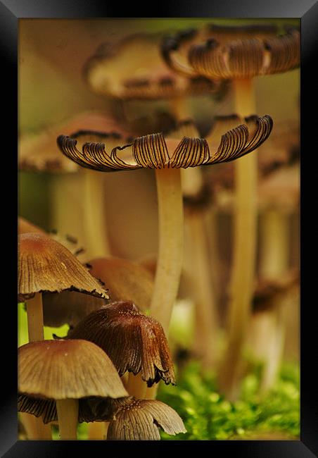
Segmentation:
{"type": "MultiPolygon", "coordinates": [[[[163,56],[171,68],[184,75],[231,79],[236,112],[255,112],[253,78],[282,73],[299,66],[300,33],[289,28],[282,35],[275,27],[211,25],[191,37],[177,35],[163,44],[163,56]],[[257,28],[257,31],[255,29],[257,28]]],[[[220,387],[235,397],[243,335],[250,314],[255,270],[257,209],[257,156],[236,163],[236,212],[234,255],[229,303],[229,342],[220,369],[220,387]],[[248,237],[246,237],[248,234],[248,237]],[[236,386],[236,388],[235,388],[236,386]]]]}

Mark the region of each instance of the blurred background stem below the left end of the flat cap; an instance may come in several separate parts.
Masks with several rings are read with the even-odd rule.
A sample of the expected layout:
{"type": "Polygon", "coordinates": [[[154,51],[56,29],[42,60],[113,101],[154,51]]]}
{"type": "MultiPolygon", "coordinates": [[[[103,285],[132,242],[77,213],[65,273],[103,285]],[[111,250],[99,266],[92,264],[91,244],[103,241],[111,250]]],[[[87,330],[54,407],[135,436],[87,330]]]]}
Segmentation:
{"type": "Polygon", "coordinates": [[[91,258],[108,256],[110,247],[106,225],[104,173],[83,170],[84,232],[87,252],[91,258]]]}

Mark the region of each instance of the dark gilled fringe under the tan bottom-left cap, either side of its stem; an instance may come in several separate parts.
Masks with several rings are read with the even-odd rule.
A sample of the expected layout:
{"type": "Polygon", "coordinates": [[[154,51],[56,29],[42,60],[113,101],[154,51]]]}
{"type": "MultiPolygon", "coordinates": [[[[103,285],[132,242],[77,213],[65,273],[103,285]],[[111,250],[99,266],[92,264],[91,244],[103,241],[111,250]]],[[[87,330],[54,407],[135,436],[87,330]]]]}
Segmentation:
{"type": "MultiPolygon", "coordinates": [[[[79,399],[78,421],[110,421],[115,420],[115,413],[118,410],[117,404],[110,402],[112,398],[107,397],[82,397],[79,399]]],[[[18,395],[18,411],[26,412],[34,416],[41,416],[44,423],[58,421],[56,401],[47,400],[29,395],[18,395]]]]}

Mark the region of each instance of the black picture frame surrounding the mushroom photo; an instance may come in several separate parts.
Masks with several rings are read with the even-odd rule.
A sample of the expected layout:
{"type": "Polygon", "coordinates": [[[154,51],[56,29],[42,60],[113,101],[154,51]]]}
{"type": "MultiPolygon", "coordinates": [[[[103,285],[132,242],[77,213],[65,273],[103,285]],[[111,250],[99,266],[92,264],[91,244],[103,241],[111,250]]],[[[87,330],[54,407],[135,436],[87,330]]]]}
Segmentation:
{"type": "MultiPolygon", "coordinates": [[[[135,4],[130,9],[121,5],[121,8],[106,5],[106,2],[86,1],[86,0],[64,0],[64,1],[37,1],[37,0],[1,0],[0,1],[0,22],[1,22],[1,56],[4,63],[2,74],[2,89],[9,97],[9,102],[3,102],[2,110],[4,114],[5,132],[2,137],[1,149],[5,151],[5,166],[13,169],[13,177],[16,177],[16,156],[15,142],[18,131],[18,20],[20,18],[103,18],[114,17],[119,15],[124,17],[150,17],[153,11],[147,11],[147,7],[142,4],[138,8],[135,4]],[[130,16],[129,16],[130,14],[130,16]],[[10,133],[9,133],[10,132],[10,133]],[[8,154],[7,151],[10,151],[8,154]],[[15,173],[15,175],[14,175],[15,173]]],[[[301,115],[301,150],[307,151],[307,154],[314,154],[314,147],[310,144],[314,140],[317,130],[315,127],[315,115],[311,114],[311,106],[314,104],[314,97],[317,92],[317,83],[314,80],[315,65],[314,49],[317,44],[318,31],[318,4],[314,0],[267,0],[266,2],[255,2],[251,0],[228,0],[228,1],[193,1],[179,2],[170,1],[169,4],[162,4],[158,11],[155,11],[155,17],[193,17],[193,18],[300,18],[301,24],[301,67],[300,67],[300,115],[301,115]]],[[[317,147],[316,147],[317,150],[317,147]]],[[[208,441],[191,442],[191,441],[160,441],[155,445],[149,442],[131,442],[115,443],[113,441],[20,441],[18,438],[18,421],[16,414],[17,407],[17,383],[16,383],[16,340],[13,338],[15,323],[17,323],[17,313],[15,307],[7,307],[4,312],[4,319],[7,323],[13,323],[8,326],[9,336],[6,338],[6,352],[10,358],[4,357],[4,369],[2,371],[2,397],[0,408],[0,452],[1,456],[6,458],[16,457],[57,457],[63,454],[77,451],[96,456],[99,451],[115,451],[115,457],[121,456],[122,450],[131,453],[148,451],[155,456],[168,452],[172,456],[178,452],[179,447],[186,445],[189,452],[196,451],[201,453],[201,447],[208,447],[208,453],[214,456],[220,456],[221,453],[236,454],[245,458],[311,458],[318,456],[318,409],[317,409],[317,382],[314,377],[315,365],[317,365],[317,326],[316,321],[312,319],[312,309],[316,306],[314,303],[315,285],[314,280],[310,278],[309,269],[304,272],[303,263],[307,252],[306,245],[308,240],[314,240],[307,233],[308,225],[312,226],[312,221],[308,225],[306,221],[305,204],[312,199],[314,190],[312,183],[314,180],[307,178],[310,173],[308,168],[309,159],[305,154],[300,156],[301,169],[301,288],[300,288],[300,421],[301,435],[300,440],[281,440],[281,441],[208,441]],[[306,177],[305,177],[306,174],[306,177]],[[306,292],[310,292],[310,296],[306,292]],[[307,297],[307,302],[305,301],[307,297]],[[305,304],[307,307],[305,307],[305,304]],[[10,359],[10,364],[9,364],[10,359]],[[9,367],[10,366],[10,367],[9,367]],[[6,376],[4,374],[6,373],[6,376]],[[9,375],[9,376],[8,376],[9,375]],[[6,394],[4,394],[6,393],[6,394]],[[129,448],[127,448],[129,447],[129,448]],[[194,448],[196,447],[196,448],[194,448]],[[198,450],[200,449],[200,450],[198,450]],[[216,454],[215,454],[216,453],[216,454]]],[[[3,185],[3,196],[17,196],[18,180],[5,180],[3,185]]],[[[14,199],[14,197],[13,197],[14,199]]],[[[6,271],[10,278],[16,278],[16,257],[12,254],[16,252],[16,209],[15,204],[10,199],[3,199],[4,213],[11,215],[12,230],[6,230],[6,237],[11,233],[12,247],[11,255],[6,256],[6,271]]],[[[310,245],[310,254],[312,245],[310,245]]],[[[312,270],[312,269],[310,269],[312,270]]],[[[7,280],[6,280],[7,281],[7,280]]],[[[14,282],[15,280],[13,280],[14,282]]],[[[14,287],[6,290],[14,291],[14,287]]],[[[7,304],[15,304],[15,296],[6,293],[3,300],[7,304]]]]}

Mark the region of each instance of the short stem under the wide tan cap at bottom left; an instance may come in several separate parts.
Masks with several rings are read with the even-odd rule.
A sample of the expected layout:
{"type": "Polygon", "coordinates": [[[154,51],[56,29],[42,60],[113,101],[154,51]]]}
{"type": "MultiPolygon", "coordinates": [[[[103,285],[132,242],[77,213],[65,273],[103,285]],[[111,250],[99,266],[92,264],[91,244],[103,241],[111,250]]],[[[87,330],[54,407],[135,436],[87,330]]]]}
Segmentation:
{"type": "Polygon", "coordinates": [[[77,440],[78,400],[56,400],[61,440],[77,440]]]}

